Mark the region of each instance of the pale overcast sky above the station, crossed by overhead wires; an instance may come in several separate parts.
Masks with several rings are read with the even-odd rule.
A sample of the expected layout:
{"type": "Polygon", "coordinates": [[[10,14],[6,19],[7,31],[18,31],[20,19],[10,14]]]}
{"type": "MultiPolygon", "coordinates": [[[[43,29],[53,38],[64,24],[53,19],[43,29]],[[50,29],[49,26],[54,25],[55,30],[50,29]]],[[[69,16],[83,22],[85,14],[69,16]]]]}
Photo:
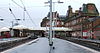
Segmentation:
{"type": "MultiPolygon", "coordinates": [[[[20,0],[14,0],[17,4],[23,7],[20,0]]],[[[19,24],[26,25],[28,27],[40,27],[40,22],[44,17],[47,16],[49,12],[49,4],[44,4],[44,2],[48,0],[22,0],[28,13],[30,14],[32,21],[30,20],[29,16],[25,14],[25,20],[18,21],[19,24]]],[[[53,2],[57,2],[58,0],[53,0],[53,2]]],[[[82,7],[82,4],[85,3],[95,3],[96,7],[100,12],[100,1],[99,0],[60,0],[63,1],[63,4],[55,4],[54,11],[58,11],[60,15],[66,15],[67,7],[69,5],[72,6],[73,11],[78,10],[82,7]]],[[[11,27],[11,21],[15,22],[15,18],[9,11],[9,8],[12,9],[16,18],[23,19],[23,12],[24,10],[18,5],[16,5],[12,0],[0,0],[0,18],[3,18],[4,21],[0,21],[0,26],[4,27],[11,27]]]]}

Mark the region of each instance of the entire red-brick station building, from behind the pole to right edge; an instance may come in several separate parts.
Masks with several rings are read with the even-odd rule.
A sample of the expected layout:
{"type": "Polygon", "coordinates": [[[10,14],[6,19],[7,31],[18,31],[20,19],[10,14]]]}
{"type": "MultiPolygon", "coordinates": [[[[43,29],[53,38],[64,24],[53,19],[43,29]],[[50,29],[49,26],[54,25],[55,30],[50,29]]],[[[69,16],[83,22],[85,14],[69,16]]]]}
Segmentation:
{"type": "MultiPolygon", "coordinates": [[[[53,14],[53,27],[71,28],[71,36],[77,38],[100,39],[100,16],[95,4],[83,4],[79,10],[73,12],[73,8],[68,6],[66,15],[53,14]]],[[[41,22],[41,27],[49,25],[50,13],[41,22]]]]}

